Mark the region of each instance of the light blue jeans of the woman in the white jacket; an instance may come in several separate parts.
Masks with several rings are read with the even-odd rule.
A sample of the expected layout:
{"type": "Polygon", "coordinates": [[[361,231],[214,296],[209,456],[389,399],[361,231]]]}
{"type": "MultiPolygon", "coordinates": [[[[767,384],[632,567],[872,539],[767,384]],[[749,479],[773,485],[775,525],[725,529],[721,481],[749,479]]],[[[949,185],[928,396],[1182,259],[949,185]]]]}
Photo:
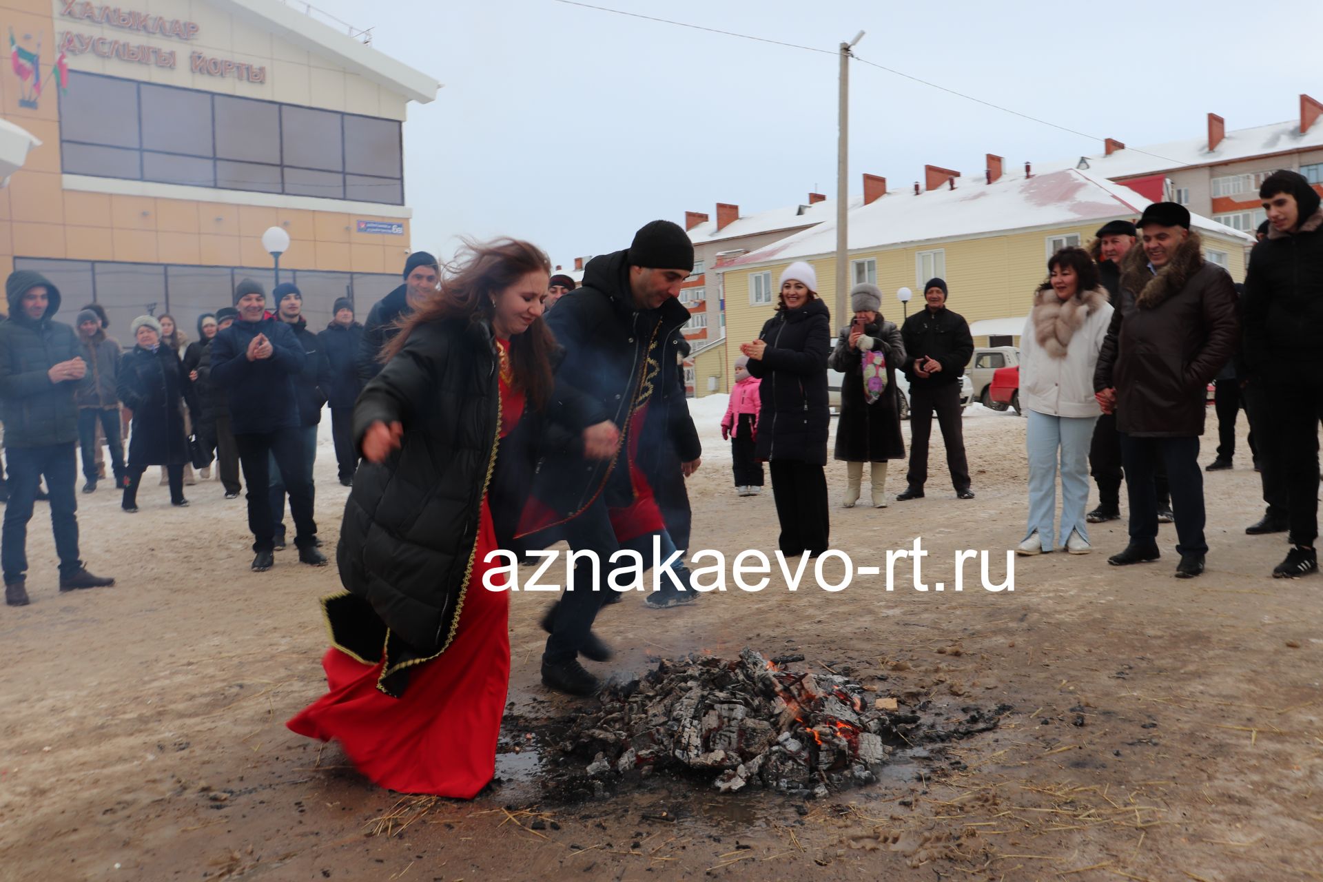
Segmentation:
{"type": "Polygon", "coordinates": [[[1029,524],[1024,538],[1039,532],[1044,551],[1050,551],[1052,520],[1057,508],[1057,459],[1061,472],[1061,532],[1065,545],[1072,530],[1089,541],[1085,509],[1089,508],[1089,446],[1097,417],[1050,417],[1029,411],[1025,446],[1029,451],[1029,524]]]}

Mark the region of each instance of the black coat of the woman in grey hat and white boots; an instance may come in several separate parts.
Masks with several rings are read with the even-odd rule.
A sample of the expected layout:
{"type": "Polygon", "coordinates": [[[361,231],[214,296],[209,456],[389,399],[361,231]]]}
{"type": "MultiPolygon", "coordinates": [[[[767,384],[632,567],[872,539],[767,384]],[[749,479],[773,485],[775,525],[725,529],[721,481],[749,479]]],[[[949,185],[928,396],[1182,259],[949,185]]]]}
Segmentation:
{"type": "Polygon", "coordinates": [[[836,459],[882,463],[905,459],[901,436],[900,390],[896,366],[905,364],[905,342],[894,321],[864,325],[873,352],[886,356],[886,389],[873,403],[864,397],[864,353],[849,346],[849,327],[836,339],[827,366],[845,374],[840,381],[840,418],[836,421],[836,459]]]}

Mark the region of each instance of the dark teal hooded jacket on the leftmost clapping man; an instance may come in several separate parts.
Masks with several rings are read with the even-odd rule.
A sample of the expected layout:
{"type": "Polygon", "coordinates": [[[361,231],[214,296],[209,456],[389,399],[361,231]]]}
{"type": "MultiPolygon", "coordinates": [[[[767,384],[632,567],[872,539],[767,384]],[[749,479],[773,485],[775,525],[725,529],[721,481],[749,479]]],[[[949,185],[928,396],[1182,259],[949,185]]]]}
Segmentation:
{"type": "Polygon", "coordinates": [[[54,365],[83,353],[74,329],[52,321],[60,309],[60,290],[26,270],[5,283],[9,317],[0,321],[0,421],[5,447],[45,447],[78,440],[77,380],[50,382],[54,365]],[[46,288],[46,315],[33,321],[22,312],[22,295],[46,288]]]}

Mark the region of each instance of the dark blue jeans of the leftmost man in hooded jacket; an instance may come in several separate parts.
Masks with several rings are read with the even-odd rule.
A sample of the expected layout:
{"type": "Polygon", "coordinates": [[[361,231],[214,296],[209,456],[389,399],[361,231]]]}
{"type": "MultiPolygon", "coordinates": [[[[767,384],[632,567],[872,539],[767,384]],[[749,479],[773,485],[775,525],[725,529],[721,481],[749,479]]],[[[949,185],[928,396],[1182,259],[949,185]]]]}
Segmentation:
{"type": "Polygon", "coordinates": [[[46,492],[50,495],[50,525],[56,532],[60,574],[73,575],[82,569],[82,561],[78,559],[78,517],[74,514],[78,510],[74,496],[74,481],[78,477],[74,442],[11,447],[5,455],[9,459],[9,504],[4,510],[4,530],[0,533],[0,566],[4,569],[5,584],[22,582],[28,573],[28,521],[32,520],[32,505],[42,475],[46,476],[46,492]]]}

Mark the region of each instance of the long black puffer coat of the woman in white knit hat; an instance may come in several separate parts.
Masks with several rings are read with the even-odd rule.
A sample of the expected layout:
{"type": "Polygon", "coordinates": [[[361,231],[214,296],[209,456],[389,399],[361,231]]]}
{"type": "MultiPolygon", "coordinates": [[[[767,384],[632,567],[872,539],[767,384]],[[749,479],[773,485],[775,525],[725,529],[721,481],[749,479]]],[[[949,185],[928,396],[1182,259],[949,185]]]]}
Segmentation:
{"type": "Polygon", "coordinates": [[[757,458],[826,465],[831,311],[818,298],[798,309],[778,309],[758,339],[767,348],[762,358],[749,360],[749,373],[762,381],[757,458]]]}

